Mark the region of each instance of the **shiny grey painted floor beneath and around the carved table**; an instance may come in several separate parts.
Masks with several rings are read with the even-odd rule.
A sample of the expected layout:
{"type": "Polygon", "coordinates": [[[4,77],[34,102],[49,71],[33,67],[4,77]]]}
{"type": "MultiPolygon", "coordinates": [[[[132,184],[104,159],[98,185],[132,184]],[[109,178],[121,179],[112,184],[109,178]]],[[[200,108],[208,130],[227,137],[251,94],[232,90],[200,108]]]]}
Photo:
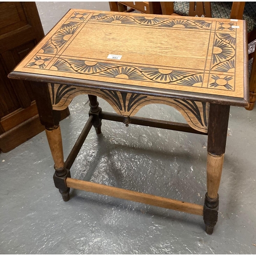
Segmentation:
{"type": "MultiPolygon", "coordinates": [[[[70,8],[109,10],[108,2],[38,2],[47,33],[70,8]]],[[[104,111],[114,112],[99,99],[104,111]]],[[[88,118],[88,97],[70,104],[61,121],[65,158],[88,118]]],[[[183,122],[176,110],[155,104],[137,116],[183,122]]],[[[71,189],[63,202],[54,187],[53,160],[42,132],[0,155],[2,254],[256,254],[256,109],[231,107],[214,233],[203,218],[71,189]]],[[[103,121],[91,130],[71,169],[73,178],[203,204],[203,135],[103,121]]]]}

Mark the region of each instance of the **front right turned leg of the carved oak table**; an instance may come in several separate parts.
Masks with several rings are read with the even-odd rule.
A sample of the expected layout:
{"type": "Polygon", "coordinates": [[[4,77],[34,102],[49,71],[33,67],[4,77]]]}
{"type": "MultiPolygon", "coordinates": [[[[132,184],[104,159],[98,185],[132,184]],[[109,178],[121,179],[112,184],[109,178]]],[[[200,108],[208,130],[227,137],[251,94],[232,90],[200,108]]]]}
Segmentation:
{"type": "Polygon", "coordinates": [[[207,142],[207,193],[203,212],[208,234],[212,234],[218,220],[218,190],[226,147],[229,109],[229,105],[210,104],[207,142]]]}

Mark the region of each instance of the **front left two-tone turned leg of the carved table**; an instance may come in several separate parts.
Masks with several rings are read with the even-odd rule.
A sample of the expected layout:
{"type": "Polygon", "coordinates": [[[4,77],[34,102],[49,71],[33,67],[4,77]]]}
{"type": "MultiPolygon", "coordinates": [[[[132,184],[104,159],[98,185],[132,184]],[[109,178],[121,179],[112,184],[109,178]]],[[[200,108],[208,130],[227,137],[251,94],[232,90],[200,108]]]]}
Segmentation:
{"type": "Polygon", "coordinates": [[[71,176],[63,159],[63,148],[59,127],[60,112],[52,109],[47,83],[33,82],[32,89],[35,96],[40,121],[42,125],[45,125],[47,139],[54,160],[54,184],[59,189],[63,200],[66,202],[69,201],[70,191],[70,188],[66,185],[66,178],[70,178],[71,176]]]}

